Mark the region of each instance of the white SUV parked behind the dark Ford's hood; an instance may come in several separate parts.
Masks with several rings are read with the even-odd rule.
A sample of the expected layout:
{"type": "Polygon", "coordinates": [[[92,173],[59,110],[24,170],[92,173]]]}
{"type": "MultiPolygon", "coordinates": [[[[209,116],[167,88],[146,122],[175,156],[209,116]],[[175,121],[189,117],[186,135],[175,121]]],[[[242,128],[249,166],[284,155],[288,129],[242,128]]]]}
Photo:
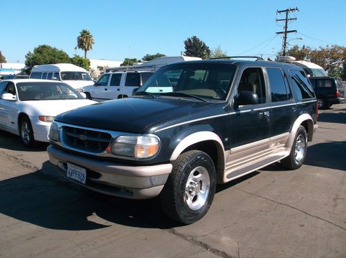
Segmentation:
{"type": "Polygon", "coordinates": [[[127,98],[153,73],[136,71],[104,73],[95,84],[84,86],[83,92],[86,94],[86,98],[96,101],[127,98]]]}

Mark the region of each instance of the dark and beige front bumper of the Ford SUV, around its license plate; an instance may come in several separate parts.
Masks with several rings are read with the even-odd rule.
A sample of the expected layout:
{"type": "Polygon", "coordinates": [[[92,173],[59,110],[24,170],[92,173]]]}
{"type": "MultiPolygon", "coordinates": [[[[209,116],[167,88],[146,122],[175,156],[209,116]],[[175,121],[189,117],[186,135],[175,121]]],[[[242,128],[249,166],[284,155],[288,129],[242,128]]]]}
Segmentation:
{"type": "Polygon", "coordinates": [[[68,178],[73,183],[95,192],[129,199],[148,199],[158,196],[168,175],[172,172],[170,163],[135,167],[72,154],[53,145],[48,146],[47,152],[51,163],[65,178],[68,178],[66,162],[86,168],[85,185],[68,178]]]}

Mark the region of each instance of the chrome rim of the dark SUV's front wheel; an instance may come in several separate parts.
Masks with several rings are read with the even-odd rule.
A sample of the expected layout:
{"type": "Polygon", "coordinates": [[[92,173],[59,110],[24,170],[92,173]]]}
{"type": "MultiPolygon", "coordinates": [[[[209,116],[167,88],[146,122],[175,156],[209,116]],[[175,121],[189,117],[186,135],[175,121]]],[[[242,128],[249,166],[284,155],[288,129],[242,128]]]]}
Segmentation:
{"type": "Polygon", "coordinates": [[[199,210],[208,199],[210,176],[206,167],[195,167],[185,186],[185,203],[191,210],[199,210]]]}

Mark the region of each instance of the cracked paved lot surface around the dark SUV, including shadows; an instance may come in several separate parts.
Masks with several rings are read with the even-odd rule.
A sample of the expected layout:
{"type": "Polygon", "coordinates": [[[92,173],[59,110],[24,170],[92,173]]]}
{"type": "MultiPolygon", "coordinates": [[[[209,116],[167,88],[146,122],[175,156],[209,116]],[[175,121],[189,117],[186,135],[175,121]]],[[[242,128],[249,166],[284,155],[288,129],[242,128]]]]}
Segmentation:
{"type": "Polygon", "coordinates": [[[47,145],[0,131],[0,257],[346,257],[346,104],[321,111],[305,165],[271,165],[218,187],[201,221],[167,220],[157,199],[67,183],[47,145]]]}

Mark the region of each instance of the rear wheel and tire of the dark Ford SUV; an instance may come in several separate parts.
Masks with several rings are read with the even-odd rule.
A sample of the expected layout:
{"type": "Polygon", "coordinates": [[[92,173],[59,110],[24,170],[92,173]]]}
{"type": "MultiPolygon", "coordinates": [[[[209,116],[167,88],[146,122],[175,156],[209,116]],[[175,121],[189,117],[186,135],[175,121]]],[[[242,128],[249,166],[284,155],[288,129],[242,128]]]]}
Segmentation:
{"type": "Polygon", "coordinates": [[[281,160],[281,165],[288,169],[298,169],[307,158],[307,131],[300,125],[289,156],[281,160]],[[298,146],[299,145],[299,146],[298,146]]]}

